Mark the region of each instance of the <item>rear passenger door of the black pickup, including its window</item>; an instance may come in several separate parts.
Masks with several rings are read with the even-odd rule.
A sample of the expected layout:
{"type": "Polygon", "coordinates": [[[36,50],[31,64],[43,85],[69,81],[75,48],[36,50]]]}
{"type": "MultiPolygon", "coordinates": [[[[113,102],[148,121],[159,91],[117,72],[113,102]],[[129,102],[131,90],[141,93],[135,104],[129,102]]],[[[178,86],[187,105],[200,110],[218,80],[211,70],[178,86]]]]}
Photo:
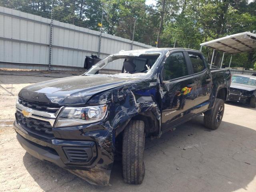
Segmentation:
{"type": "Polygon", "coordinates": [[[212,74],[205,62],[204,56],[200,52],[186,51],[189,57],[194,74],[194,91],[192,100],[194,101],[194,114],[203,112],[208,108],[212,86],[212,74]]]}

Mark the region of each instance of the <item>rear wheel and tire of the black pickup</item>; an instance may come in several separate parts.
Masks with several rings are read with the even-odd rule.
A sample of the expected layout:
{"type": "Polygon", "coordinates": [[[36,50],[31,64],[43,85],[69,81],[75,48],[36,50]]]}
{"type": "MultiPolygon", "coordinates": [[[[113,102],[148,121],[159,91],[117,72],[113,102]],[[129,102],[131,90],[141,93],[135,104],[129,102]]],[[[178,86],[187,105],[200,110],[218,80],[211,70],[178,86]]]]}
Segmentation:
{"type": "Polygon", "coordinates": [[[208,129],[216,130],[222,121],[224,114],[224,101],[222,99],[216,99],[214,108],[204,113],[204,126],[208,129]]]}

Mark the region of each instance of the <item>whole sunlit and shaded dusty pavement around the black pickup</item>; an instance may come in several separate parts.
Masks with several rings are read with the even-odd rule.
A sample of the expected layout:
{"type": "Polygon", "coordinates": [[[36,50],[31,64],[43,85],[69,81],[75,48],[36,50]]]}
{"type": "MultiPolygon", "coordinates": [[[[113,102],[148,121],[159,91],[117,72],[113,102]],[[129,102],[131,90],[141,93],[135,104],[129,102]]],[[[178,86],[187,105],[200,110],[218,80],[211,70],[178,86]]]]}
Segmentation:
{"type": "Polygon", "coordinates": [[[71,75],[0,70],[0,191],[256,191],[256,109],[239,103],[225,104],[218,130],[204,128],[198,116],[160,139],[147,140],[146,175],[138,186],[122,181],[120,162],[114,164],[111,186],[93,186],[32,157],[12,128],[16,96],[24,86],[71,75]]]}

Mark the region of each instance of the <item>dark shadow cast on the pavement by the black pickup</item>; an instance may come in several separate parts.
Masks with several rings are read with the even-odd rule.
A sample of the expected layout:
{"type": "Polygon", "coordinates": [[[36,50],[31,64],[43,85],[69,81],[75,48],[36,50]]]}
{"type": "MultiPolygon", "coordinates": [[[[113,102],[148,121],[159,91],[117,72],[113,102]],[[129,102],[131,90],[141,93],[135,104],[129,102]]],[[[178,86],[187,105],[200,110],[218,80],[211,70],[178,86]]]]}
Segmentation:
{"type": "Polygon", "coordinates": [[[222,122],[218,130],[202,125],[202,116],[146,140],[146,175],[141,185],[122,181],[121,162],[115,162],[110,184],[93,186],[58,166],[26,153],[24,166],[44,191],[225,191],[250,188],[256,176],[256,131],[222,122]]]}

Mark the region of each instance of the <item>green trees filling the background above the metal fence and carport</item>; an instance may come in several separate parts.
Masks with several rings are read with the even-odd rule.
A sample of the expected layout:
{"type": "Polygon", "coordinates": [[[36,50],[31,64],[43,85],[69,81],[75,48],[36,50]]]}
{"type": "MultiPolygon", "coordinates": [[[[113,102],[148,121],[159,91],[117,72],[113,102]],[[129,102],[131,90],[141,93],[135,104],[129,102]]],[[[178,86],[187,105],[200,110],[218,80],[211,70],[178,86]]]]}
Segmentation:
{"type": "MultiPolygon", "coordinates": [[[[162,0],[148,6],[145,0],[54,0],[53,18],[61,22],[155,46],[162,0]]],[[[50,18],[51,0],[0,0],[0,6],[50,18]]],[[[201,42],[250,31],[256,33],[256,2],[248,0],[166,0],[161,47],[199,49],[201,42]]],[[[204,48],[208,55],[211,50],[204,48]]],[[[215,64],[221,60],[217,52],[215,64]]],[[[228,58],[229,56],[226,56],[228,58]]],[[[233,64],[253,68],[256,51],[233,56],[233,64]],[[242,58],[242,59],[239,59],[242,58]]],[[[226,60],[225,60],[226,62],[226,60]]]]}

